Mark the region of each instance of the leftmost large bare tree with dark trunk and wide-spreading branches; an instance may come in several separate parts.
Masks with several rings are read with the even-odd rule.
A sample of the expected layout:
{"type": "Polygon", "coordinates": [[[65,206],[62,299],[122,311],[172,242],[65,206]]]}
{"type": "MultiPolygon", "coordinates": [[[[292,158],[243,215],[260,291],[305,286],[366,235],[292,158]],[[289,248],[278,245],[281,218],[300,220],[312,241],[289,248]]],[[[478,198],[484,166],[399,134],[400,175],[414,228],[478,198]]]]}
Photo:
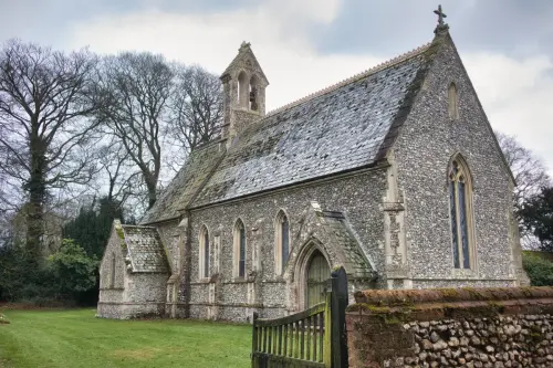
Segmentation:
{"type": "Polygon", "coordinates": [[[0,172],[25,191],[27,245],[39,254],[49,192],[86,183],[94,171],[87,117],[96,57],[9,41],[0,51],[0,172]]]}

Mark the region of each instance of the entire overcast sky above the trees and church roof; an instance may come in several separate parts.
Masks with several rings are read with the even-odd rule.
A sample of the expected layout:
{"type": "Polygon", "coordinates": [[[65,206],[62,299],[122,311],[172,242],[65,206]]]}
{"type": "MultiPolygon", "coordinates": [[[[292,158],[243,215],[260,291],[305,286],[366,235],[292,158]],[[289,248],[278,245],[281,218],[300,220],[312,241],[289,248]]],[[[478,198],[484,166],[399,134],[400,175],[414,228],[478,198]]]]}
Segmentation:
{"type": "MultiPolygon", "coordinates": [[[[553,175],[553,1],[442,0],[494,129],[553,175]]],[[[431,41],[429,0],[0,0],[0,41],[152,51],[221,73],[251,42],[269,109],[431,41]]]]}

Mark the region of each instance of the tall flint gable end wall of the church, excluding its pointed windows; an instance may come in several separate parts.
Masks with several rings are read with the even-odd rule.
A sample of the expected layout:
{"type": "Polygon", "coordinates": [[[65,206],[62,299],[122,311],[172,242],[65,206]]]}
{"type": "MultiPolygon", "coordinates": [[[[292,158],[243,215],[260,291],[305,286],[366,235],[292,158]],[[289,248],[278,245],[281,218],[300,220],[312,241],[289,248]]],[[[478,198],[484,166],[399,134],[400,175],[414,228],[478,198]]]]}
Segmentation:
{"type": "Polygon", "coordinates": [[[393,148],[413,286],[524,283],[523,276],[517,280],[520,261],[513,264],[520,244],[512,236],[511,172],[450,36],[438,42],[441,50],[393,148]],[[451,83],[458,118],[448,115],[451,83]],[[476,267],[466,273],[452,269],[448,166],[456,154],[473,181],[476,267]]]}

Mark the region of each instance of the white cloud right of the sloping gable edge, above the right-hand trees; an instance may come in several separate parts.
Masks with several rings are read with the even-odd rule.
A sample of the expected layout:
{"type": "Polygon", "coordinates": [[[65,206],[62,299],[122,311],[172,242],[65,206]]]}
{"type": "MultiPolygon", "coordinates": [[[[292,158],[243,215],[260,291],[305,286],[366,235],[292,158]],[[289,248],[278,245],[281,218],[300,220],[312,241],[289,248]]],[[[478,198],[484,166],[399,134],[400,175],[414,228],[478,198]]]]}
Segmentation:
{"type": "Polygon", "coordinates": [[[542,157],[553,176],[553,62],[535,55],[517,60],[502,54],[462,55],[491,125],[517,136],[542,157]]]}

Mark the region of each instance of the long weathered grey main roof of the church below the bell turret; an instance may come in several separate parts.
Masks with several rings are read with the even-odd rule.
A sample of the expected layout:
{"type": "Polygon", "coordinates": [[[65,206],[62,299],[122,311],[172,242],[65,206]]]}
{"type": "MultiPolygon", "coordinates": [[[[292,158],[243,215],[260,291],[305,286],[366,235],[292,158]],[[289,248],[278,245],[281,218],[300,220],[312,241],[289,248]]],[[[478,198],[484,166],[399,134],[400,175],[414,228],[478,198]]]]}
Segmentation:
{"type": "Polygon", "coordinates": [[[270,112],[227,151],[198,148],[142,223],[375,166],[406,119],[434,57],[434,43],[270,112]]]}

